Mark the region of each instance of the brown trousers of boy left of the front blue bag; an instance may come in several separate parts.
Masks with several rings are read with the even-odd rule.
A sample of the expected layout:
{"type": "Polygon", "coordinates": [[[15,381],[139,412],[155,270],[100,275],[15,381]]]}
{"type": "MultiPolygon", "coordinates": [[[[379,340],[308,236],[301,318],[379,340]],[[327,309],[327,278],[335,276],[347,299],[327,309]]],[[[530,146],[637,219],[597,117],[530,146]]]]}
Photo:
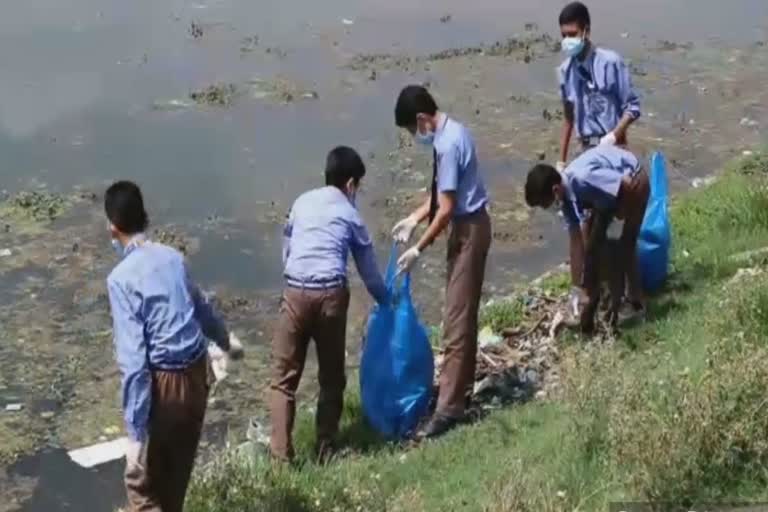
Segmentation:
{"type": "Polygon", "coordinates": [[[293,422],[309,340],[315,340],[320,394],[315,424],[317,448],[333,442],[344,405],[344,367],[349,290],[346,287],[312,290],[287,287],[283,292],[277,332],[272,341],[272,455],[293,458],[293,422]]]}

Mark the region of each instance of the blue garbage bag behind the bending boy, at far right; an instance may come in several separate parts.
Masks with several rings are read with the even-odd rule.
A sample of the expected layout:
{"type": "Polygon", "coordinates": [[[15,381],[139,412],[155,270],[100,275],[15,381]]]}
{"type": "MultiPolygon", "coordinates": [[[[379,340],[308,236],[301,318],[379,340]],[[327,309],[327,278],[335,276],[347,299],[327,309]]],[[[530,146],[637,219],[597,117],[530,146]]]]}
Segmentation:
{"type": "Polygon", "coordinates": [[[653,292],[666,281],[669,273],[669,249],[672,231],[669,222],[667,164],[662,153],[651,157],[651,194],[637,240],[637,256],[643,288],[653,292]]]}

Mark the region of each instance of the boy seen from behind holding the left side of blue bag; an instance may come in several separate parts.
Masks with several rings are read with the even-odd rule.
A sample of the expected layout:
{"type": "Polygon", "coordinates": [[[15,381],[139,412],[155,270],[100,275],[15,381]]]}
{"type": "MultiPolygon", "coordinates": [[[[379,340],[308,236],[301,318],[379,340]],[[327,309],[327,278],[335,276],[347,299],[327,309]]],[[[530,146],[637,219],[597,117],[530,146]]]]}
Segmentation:
{"type": "Polygon", "coordinates": [[[344,404],[344,368],[349,288],[347,256],[352,252],[360,277],[379,303],[388,300],[376,264],[373,242],[355,206],[365,165],[354,149],[337,147],[325,167],[325,187],[302,194],[285,226],[285,289],[272,342],[271,451],[293,459],[296,389],[310,339],[315,340],[320,394],[317,399],[316,454],[332,454],[344,404]]]}

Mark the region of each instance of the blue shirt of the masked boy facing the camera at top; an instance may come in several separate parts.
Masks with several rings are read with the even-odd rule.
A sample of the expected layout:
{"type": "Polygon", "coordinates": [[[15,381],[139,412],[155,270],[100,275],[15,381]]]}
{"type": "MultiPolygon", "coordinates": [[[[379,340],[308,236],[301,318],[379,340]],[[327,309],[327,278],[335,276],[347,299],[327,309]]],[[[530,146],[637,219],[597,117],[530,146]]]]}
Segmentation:
{"type": "Polygon", "coordinates": [[[618,53],[595,48],[584,62],[568,58],[558,75],[563,102],[573,105],[579,137],[599,137],[613,131],[624,114],[640,117],[640,99],[618,53]]]}

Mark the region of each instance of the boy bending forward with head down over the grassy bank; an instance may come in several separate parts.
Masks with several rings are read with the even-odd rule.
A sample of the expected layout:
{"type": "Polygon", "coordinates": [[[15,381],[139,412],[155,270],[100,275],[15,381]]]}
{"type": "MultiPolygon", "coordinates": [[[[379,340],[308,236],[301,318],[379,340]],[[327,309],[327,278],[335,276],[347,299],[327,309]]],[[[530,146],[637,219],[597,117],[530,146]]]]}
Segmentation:
{"type": "MultiPolygon", "coordinates": [[[[529,206],[562,212],[571,241],[582,241],[582,225],[586,232],[583,251],[581,285],[586,289],[588,304],[581,312],[582,331],[595,327],[595,313],[600,302],[599,264],[609,225],[614,219],[623,221],[619,251],[613,262],[628,283],[629,314],[639,315],[645,303],[637,261],[637,237],[645,216],[650,187],[648,174],[635,155],[616,146],[597,146],[582,153],[560,173],[555,168],[538,164],[528,173],[525,201],[529,206]],[[585,211],[591,210],[587,219],[585,211]],[[578,233],[579,236],[573,236],[578,233]]],[[[572,262],[573,264],[573,262],[572,262]]],[[[581,269],[579,269],[581,270],[581,269]]],[[[616,324],[618,318],[610,319],[616,324]]]]}

